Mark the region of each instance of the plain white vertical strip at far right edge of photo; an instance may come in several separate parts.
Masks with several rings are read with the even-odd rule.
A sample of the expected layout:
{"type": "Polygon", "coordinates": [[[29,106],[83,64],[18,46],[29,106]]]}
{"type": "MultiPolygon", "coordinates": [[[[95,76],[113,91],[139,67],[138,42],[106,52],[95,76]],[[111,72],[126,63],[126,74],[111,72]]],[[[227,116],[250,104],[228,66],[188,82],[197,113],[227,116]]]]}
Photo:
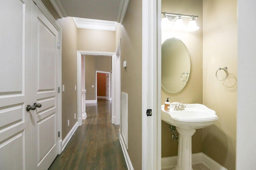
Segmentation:
{"type": "Polygon", "coordinates": [[[255,0],[238,0],[238,105],[236,170],[256,167],[255,0]]]}

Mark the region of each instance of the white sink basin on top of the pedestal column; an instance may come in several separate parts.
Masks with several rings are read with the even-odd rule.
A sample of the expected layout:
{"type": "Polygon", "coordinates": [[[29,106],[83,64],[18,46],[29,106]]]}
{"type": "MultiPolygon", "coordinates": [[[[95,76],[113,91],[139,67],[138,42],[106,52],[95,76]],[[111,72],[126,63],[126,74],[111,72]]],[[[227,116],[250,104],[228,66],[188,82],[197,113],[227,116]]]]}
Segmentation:
{"type": "MultiPolygon", "coordinates": [[[[172,104],[176,104],[172,103],[172,104]]],[[[185,104],[185,110],[174,110],[175,105],[170,105],[170,111],[161,106],[162,121],[181,129],[201,129],[212,125],[219,118],[216,112],[202,104],[185,104]]]]}

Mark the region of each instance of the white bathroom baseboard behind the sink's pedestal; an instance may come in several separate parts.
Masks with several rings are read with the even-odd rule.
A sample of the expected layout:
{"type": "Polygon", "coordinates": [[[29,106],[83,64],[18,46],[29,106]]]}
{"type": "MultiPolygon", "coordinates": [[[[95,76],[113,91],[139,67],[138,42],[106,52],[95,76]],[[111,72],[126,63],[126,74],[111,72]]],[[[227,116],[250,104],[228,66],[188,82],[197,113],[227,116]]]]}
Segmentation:
{"type": "MultiPolygon", "coordinates": [[[[174,168],[177,164],[178,156],[170,156],[161,158],[161,169],[171,169],[174,168]]],[[[192,154],[192,164],[203,163],[207,168],[211,170],[227,170],[216,161],[212,160],[209,156],[204,153],[195,153],[192,154]]]]}

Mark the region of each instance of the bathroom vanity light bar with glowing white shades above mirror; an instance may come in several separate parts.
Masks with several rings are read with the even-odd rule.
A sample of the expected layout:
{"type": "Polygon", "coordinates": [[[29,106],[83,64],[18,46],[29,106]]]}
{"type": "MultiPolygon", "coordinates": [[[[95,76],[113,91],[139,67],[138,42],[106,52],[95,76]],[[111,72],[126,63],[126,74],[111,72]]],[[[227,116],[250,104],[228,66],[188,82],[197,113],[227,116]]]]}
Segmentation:
{"type": "Polygon", "coordinates": [[[199,27],[196,25],[195,19],[198,16],[190,16],[190,15],[183,15],[183,14],[172,14],[167,12],[162,12],[162,28],[165,29],[167,27],[171,27],[172,30],[176,31],[196,31],[199,27]],[[188,22],[188,26],[186,27],[182,21],[182,17],[184,18],[191,18],[188,22]],[[167,20],[166,20],[167,19],[167,20]],[[173,26],[172,26],[173,23],[173,26]]]}

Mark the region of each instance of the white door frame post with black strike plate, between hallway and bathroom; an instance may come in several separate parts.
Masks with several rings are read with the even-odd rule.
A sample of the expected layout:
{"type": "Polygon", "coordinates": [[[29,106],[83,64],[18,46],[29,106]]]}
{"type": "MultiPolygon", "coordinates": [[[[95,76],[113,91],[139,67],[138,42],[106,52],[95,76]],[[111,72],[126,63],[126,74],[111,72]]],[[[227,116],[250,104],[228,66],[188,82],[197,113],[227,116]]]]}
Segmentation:
{"type": "Polygon", "coordinates": [[[161,169],[161,0],[142,0],[142,169],[161,169]],[[146,110],[152,109],[152,116],[146,110]],[[145,145],[147,144],[147,145],[145,145]]]}

